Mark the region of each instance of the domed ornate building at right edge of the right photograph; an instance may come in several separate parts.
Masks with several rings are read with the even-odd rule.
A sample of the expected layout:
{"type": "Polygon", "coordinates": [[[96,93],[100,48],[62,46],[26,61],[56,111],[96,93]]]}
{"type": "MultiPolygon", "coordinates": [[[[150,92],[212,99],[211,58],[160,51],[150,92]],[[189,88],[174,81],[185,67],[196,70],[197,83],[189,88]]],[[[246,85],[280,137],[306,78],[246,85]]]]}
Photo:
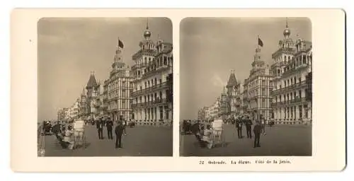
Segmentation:
{"type": "Polygon", "coordinates": [[[312,42],[284,39],[273,53],[273,118],[278,124],[312,124],[312,42]]]}

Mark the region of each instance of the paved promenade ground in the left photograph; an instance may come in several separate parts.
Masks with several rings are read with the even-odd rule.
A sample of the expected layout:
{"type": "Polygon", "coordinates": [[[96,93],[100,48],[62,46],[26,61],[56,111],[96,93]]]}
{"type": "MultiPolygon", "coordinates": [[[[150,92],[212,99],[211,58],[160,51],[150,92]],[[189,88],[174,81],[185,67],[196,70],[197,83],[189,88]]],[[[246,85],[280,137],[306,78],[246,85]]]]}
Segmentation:
{"type": "Polygon", "coordinates": [[[172,156],[171,127],[127,127],[123,148],[115,148],[115,134],[108,139],[105,128],[103,140],[98,139],[96,126],[88,125],[85,131],[86,148],[74,150],[63,149],[54,135],[45,136],[45,156],[172,156]]]}

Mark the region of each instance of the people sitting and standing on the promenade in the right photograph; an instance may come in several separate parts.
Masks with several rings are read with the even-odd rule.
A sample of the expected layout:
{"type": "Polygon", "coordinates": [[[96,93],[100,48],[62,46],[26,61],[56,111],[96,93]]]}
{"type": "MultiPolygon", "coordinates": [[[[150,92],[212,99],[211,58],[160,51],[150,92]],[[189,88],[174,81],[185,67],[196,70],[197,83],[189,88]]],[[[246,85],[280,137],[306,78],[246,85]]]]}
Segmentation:
{"type": "MultiPolygon", "coordinates": [[[[220,117],[221,119],[221,117],[220,117]]],[[[182,123],[182,129],[185,134],[191,133],[195,135],[195,138],[198,140],[200,143],[200,146],[202,147],[207,147],[207,148],[212,148],[212,126],[211,122],[213,121],[208,121],[206,123],[202,123],[200,120],[183,120],[182,123]]],[[[242,135],[242,129],[243,127],[246,127],[246,134],[247,138],[252,139],[252,125],[255,123],[253,126],[253,135],[254,135],[254,141],[253,141],[253,148],[261,147],[260,144],[260,139],[261,139],[261,134],[265,134],[265,126],[266,126],[266,120],[262,115],[260,115],[260,119],[254,119],[253,121],[250,119],[249,116],[244,116],[241,115],[237,117],[236,119],[232,118],[232,123],[235,124],[236,127],[236,132],[237,136],[239,139],[243,138],[242,135]]]]}

